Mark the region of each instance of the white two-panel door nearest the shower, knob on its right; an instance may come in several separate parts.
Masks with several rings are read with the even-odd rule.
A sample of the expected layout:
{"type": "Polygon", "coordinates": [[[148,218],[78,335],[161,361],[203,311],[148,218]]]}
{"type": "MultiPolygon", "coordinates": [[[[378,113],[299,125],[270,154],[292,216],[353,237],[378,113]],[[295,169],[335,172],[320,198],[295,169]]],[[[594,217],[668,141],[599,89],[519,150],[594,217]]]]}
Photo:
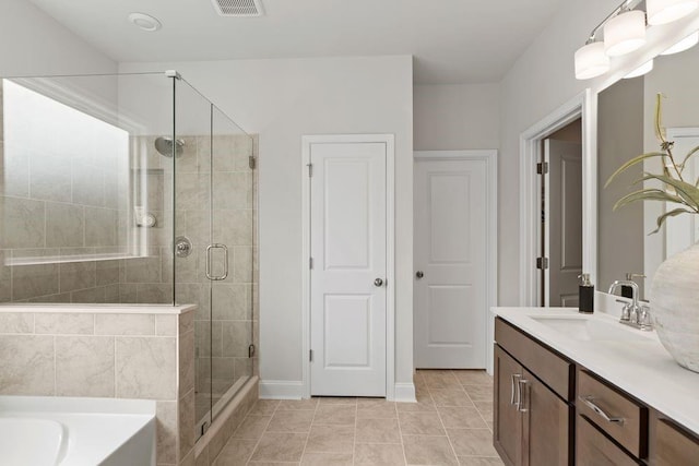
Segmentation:
{"type": "Polygon", "coordinates": [[[312,143],[310,163],[311,395],[386,396],[387,145],[312,143]]]}

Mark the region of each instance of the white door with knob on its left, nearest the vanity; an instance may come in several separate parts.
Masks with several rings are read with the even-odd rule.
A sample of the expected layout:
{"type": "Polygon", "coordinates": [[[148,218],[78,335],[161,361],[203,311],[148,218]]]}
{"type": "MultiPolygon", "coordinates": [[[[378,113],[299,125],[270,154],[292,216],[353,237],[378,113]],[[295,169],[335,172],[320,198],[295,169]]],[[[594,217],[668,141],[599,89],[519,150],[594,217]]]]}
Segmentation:
{"type": "Polygon", "coordinates": [[[415,163],[415,366],[486,365],[487,166],[415,163]]]}

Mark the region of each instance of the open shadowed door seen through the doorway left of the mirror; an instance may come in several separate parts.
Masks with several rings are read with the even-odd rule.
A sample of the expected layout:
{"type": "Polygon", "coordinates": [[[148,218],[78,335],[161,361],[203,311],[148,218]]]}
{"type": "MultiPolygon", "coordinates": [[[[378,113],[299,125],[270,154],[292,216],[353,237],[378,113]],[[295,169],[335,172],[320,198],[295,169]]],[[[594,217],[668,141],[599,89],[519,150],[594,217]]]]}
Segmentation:
{"type": "Polygon", "coordinates": [[[545,140],[544,306],[578,307],[582,273],[582,145],[545,140]]]}

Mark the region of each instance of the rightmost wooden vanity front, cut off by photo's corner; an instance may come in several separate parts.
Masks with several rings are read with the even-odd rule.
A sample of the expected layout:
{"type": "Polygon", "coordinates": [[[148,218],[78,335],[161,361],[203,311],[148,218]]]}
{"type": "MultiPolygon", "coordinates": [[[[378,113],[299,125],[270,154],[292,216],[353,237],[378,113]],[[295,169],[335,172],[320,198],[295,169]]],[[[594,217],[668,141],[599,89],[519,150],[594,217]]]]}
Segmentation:
{"type": "Polygon", "coordinates": [[[665,419],[655,420],[655,466],[696,465],[699,461],[699,440],[665,419]]]}

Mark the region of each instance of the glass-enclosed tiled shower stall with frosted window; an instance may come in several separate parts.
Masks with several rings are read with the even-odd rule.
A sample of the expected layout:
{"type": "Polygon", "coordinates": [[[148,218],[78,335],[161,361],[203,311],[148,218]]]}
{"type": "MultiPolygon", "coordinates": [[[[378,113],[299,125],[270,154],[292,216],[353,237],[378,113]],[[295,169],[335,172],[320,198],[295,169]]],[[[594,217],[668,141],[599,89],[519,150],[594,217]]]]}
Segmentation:
{"type": "Polygon", "coordinates": [[[0,302],[197,304],[203,434],[257,371],[256,138],[175,71],[0,97],[0,302]]]}

